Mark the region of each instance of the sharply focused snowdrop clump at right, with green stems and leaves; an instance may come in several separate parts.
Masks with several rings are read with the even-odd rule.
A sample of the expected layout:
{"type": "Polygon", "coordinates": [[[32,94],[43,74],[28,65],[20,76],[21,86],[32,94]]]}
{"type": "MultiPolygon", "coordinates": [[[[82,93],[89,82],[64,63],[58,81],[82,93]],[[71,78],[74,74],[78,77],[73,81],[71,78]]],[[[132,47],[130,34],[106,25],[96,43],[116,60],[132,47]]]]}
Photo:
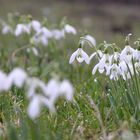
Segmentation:
{"type": "MultiPolygon", "coordinates": [[[[96,45],[93,37],[84,36],[80,38],[78,49],[71,55],[69,63],[85,62],[93,65],[92,75],[96,79],[96,73],[103,75],[106,79],[106,96],[110,100],[111,108],[116,118],[128,113],[128,118],[140,121],[140,40],[130,44],[128,34],[124,41],[124,48],[115,43],[103,43],[96,45]],[[88,55],[84,51],[89,45],[94,52],[88,55]],[[122,114],[120,115],[120,111],[122,114]]],[[[81,68],[82,69],[82,68],[81,68]]]]}

